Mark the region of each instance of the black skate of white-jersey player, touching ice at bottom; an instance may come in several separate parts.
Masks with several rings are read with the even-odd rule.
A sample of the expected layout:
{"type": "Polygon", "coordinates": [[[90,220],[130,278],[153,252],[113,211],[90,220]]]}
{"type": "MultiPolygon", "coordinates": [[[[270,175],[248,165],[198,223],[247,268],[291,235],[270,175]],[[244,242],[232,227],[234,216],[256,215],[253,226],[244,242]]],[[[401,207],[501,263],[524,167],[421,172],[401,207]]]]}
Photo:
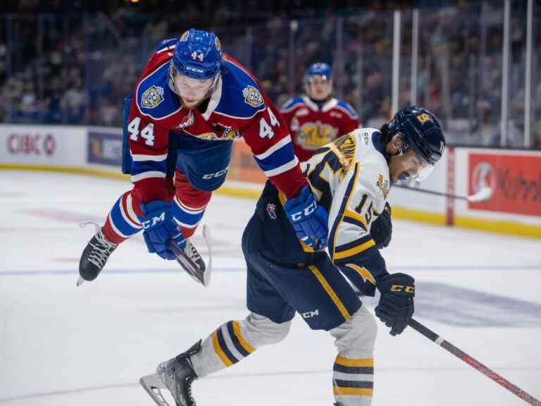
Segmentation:
{"type": "Polygon", "coordinates": [[[168,389],[177,406],[196,406],[192,397],[192,382],[197,379],[192,362],[189,360],[201,350],[201,340],[192,345],[186,352],[173,359],[162,362],[156,369],[156,374],[143,376],[139,382],[144,390],[159,406],[171,406],[163,398],[160,389],[168,389]]]}

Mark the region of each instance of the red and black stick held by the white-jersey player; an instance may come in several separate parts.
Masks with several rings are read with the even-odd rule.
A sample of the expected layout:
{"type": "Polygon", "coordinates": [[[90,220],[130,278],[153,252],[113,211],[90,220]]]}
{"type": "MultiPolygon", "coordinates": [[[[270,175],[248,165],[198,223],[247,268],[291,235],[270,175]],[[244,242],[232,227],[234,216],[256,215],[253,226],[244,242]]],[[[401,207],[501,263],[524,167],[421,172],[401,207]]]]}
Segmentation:
{"type": "Polygon", "coordinates": [[[486,367],[485,365],[478,362],[477,359],[470,357],[468,354],[466,354],[466,352],[463,352],[459,348],[449,343],[449,341],[446,341],[444,340],[444,338],[438,336],[436,333],[434,333],[434,331],[430,330],[430,328],[423,326],[423,324],[419,323],[418,321],[414,319],[410,319],[408,325],[411,328],[413,328],[413,330],[417,331],[418,333],[421,333],[423,336],[425,336],[429,340],[434,341],[434,343],[436,343],[437,345],[440,345],[440,347],[443,347],[445,350],[451,352],[451,354],[454,355],[455,357],[462,359],[462,361],[466,362],[466,364],[477,369],[482,374],[485,374],[490,379],[492,379],[492,381],[499,383],[501,386],[509,390],[509,392],[517,395],[518,398],[525,400],[528,403],[528,405],[541,406],[541,402],[533,398],[532,395],[529,395],[521,388],[514,386],[513,383],[507,381],[502,376],[499,376],[498,374],[496,374],[495,371],[492,371],[492,369],[490,369],[489,367],[486,367]]]}

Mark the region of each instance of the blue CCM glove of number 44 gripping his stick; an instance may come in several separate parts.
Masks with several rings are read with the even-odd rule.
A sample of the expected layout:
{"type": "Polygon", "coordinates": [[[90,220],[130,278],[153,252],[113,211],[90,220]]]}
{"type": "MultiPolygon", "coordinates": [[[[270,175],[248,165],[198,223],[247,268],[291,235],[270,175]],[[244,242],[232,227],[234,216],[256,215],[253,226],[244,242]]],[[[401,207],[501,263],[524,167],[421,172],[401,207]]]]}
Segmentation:
{"type": "Polygon", "coordinates": [[[154,200],[141,204],[144,217],[139,217],[143,225],[143,238],[149,252],[156,253],[163,259],[176,259],[173,252],[168,250],[168,240],[173,240],[180,249],[184,250],[186,241],[182,231],[177,227],[170,213],[170,204],[163,200],[154,200]]]}

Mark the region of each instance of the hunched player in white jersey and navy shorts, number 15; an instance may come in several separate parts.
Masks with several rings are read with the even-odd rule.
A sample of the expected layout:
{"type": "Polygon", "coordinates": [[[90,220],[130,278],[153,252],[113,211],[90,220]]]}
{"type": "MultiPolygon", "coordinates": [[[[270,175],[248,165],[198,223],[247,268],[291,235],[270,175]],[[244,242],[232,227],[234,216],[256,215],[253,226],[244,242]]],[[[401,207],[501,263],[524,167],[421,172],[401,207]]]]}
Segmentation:
{"type": "Polygon", "coordinates": [[[305,171],[329,213],[328,253],[299,242],[288,220],[290,200],[267,182],[242,237],[250,313],[242,321],[227,321],[202,343],[159,364],[156,374],[142,377],[142,386],[156,403],[166,405],[158,395],[166,388],[177,405],[195,405],[194,379],[278,343],[298,312],[312,329],[335,338],[335,405],[370,405],[377,326],[344,276],[363,295],[374,296],[378,289],[375,315],[392,336],[404,331],[413,315],[414,281],[404,273],[387,272],[371,226],[385,207],[391,183],[423,180],[444,145],[437,118],[412,106],[379,131],[359,128],[318,149],[305,171]]]}

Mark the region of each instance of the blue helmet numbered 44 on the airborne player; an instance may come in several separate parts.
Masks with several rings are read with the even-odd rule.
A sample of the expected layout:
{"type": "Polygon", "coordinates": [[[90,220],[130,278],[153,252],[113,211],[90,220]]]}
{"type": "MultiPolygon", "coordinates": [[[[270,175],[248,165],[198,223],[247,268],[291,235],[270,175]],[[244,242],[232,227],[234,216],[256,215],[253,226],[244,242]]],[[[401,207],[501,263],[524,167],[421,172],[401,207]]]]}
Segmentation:
{"type": "Polygon", "coordinates": [[[216,78],[222,66],[220,40],[213,32],[186,31],[176,44],[171,66],[188,78],[216,78]]]}

